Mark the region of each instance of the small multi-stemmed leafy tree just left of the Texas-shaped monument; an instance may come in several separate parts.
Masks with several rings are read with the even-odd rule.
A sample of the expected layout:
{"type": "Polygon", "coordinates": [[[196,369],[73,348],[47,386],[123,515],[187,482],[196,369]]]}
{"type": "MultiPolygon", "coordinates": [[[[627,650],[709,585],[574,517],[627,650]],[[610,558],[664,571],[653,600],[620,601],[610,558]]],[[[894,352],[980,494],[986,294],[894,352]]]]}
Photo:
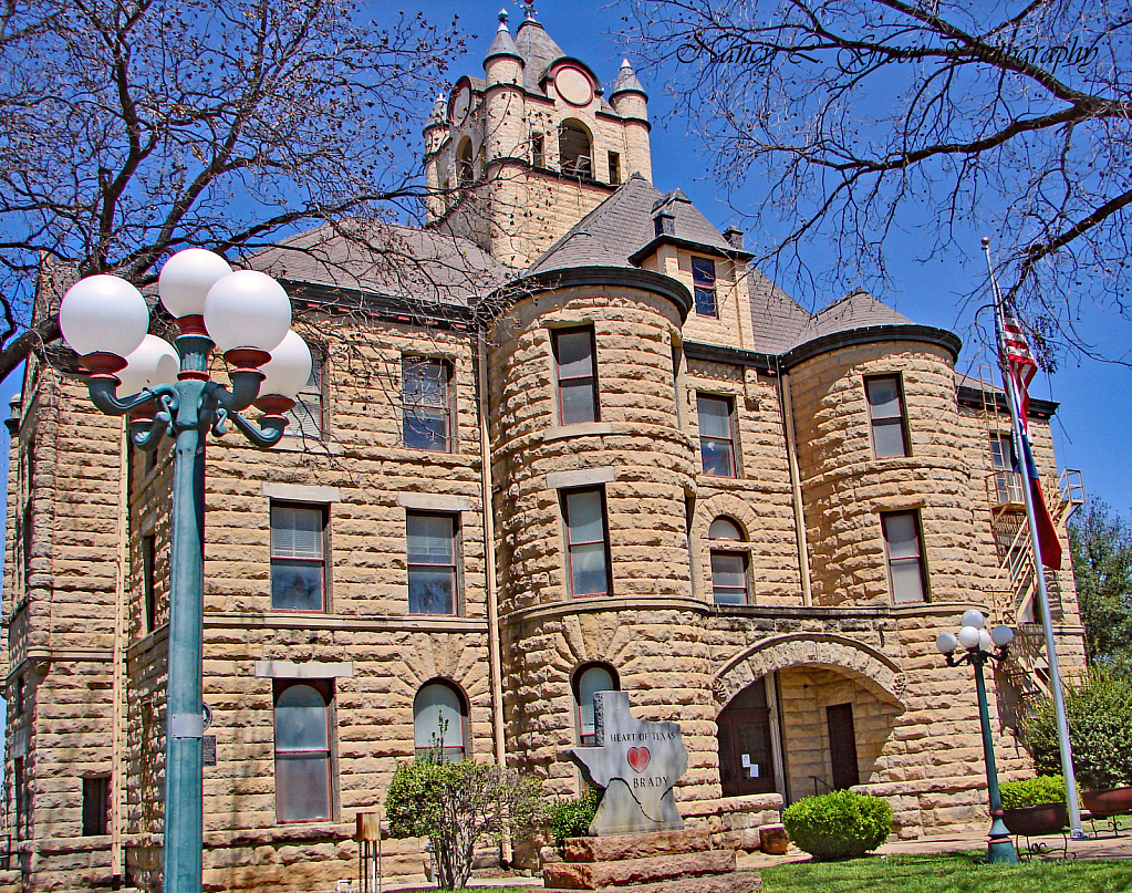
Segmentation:
{"type": "Polygon", "coordinates": [[[472,874],[472,855],[484,834],[506,825],[525,832],[543,819],[542,783],[514,770],[463,759],[424,757],[402,763],[385,796],[389,834],[428,838],[437,885],[455,890],[472,874]]]}

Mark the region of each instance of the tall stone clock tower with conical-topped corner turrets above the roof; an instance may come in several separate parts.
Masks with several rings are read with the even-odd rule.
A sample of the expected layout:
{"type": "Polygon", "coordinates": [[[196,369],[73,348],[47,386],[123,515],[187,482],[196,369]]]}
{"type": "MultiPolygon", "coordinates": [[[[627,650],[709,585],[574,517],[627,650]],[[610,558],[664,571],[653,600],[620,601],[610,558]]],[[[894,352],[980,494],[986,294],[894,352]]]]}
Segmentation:
{"type": "Polygon", "coordinates": [[[614,93],[528,8],[507,14],[483,78],[456,81],[426,127],[429,224],[529,266],[634,173],[651,179],[648,96],[628,61],[614,93]]]}

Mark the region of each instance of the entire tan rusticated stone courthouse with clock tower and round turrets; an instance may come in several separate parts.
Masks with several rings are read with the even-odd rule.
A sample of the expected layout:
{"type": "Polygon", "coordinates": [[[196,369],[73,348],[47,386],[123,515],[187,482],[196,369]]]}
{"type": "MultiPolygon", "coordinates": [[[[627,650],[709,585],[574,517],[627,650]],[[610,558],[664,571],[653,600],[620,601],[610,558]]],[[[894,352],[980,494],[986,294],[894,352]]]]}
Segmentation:
{"type": "MultiPolygon", "coordinates": [[[[428,227],[247,261],[317,362],[283,444],[207,447],[206,888],[355,878],[355,815],[441,728],[574,796],[561,752],[608,688],[680,723],[677,804],[729,845],[835,788],[903,838],[980,827],[975,686],[934,645],[971,606],[1023,630],[992,712],[1027,770],[1045,675],[1001,392],[868,294],[814,315],[778,290],[653,187],[646,101],[627,62],[602,88],[504,24],[427,122],[428,227]]],[[[128,448],[54,355],[9,421],[12,868],[158,890],[170,450],[128,448]]],[[[1049,475],[1055,409],[1030,403],[1049,475]]],[[[1050,583],[1072,670],[1067,567],[1050,583]]],[[[420,871],[421,841],[383,848],[420,871]]]]}

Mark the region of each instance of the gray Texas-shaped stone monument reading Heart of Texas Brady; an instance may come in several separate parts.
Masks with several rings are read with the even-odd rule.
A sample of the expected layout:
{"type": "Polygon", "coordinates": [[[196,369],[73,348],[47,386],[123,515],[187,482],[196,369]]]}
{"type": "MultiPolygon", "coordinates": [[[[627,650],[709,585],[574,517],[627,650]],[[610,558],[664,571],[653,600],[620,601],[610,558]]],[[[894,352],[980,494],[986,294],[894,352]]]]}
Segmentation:
{"type": "Polygon", "coordinates": [[[590,833],[595,836],[683,831],[672,789],[688,769],[688,752],[676,722],[638,720],[625,692],[593,696],[594,746],[566,754],[585,780],[604,789],[590,833]]]}

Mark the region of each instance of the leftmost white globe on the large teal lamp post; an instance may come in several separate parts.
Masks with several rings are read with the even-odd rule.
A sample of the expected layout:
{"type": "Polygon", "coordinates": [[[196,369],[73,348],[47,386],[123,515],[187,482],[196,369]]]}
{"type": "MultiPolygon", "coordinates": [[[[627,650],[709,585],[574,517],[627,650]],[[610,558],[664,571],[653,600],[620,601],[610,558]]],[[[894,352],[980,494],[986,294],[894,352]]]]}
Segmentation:
{"type": "Polygon", "coordinates": [[[59,328],[80,357],[132,353],[149,328],[142,292],[118,276],[87,276],[71,285],[59,306],[59,328]]]}

